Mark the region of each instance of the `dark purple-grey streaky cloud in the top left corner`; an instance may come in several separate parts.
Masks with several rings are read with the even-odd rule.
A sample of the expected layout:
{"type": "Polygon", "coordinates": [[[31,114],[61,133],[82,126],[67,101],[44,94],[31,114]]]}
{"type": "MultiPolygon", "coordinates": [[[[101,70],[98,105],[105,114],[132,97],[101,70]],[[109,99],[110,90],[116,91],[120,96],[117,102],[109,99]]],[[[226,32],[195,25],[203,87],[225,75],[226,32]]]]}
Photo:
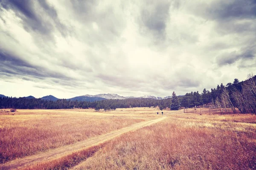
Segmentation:
{"type": "Polygon", "coordinates": [[[63,35],[68,32],[67,27],[58,19],[55,8],[49,6],[46,0],[3,0],[0,4],[7,10],[13,10],[22,19],[23,27],[27,31],[39,33],[47,38],[52,37],[55,26],[63,35]]]}

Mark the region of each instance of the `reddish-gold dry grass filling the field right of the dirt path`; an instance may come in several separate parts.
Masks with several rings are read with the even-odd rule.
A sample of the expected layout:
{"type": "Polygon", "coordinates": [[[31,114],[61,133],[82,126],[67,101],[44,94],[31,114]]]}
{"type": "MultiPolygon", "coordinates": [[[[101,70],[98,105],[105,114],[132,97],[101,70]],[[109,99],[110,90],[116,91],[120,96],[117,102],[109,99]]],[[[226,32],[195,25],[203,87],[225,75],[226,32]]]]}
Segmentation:
{"type": "Polygon", "coordinates": [[[169,118],[126,133],[73,169],[256,169],[256,126],[169,118]]]}

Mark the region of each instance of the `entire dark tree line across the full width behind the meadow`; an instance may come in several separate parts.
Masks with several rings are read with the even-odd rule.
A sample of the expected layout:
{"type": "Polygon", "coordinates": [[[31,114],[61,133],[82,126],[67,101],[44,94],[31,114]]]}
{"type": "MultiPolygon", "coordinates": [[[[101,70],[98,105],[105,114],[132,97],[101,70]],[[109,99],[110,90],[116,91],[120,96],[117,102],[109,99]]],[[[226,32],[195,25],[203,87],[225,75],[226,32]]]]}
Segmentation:
{"type": "Polygon", "coordinates": [[[134,98],[134,99],[106,99],[101,101],[71,101],[67,99],[58,99],[57,101],[49,101],[43,99],[28,99],[24,97],[0,97],[0,108],[16,108],[16,109],[70,109],[70,108],[94,108],[96,111],[100,109],[115,110],[116,108],[133,108],[133,107],[159,107],[160,110],[167,107],[171,110],[178,110],[181,107],[192,108],[199,105],[211,105],[219,108],[221,112],[232,108],[236,113],[256,113],[256,76],[248,74],[245,81],[239,82],[234,79],[233,83],[227,85],[217,85],[216,88],[203,92],[186,93],[182,97],[177,97],[175,92],[169,99],[150,99],[150,98],[134,98]]]}

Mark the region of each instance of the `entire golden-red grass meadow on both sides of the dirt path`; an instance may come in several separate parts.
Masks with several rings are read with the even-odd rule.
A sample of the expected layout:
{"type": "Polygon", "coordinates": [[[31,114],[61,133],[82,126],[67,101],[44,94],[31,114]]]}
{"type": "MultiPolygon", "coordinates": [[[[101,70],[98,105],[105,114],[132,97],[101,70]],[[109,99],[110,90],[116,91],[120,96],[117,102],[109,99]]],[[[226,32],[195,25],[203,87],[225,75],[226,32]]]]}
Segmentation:
{"type": "MultiPolygon", "coordinates": [[[[157,119],[157,108],[0,114],[1,163],[157,119]]],[[[256,115],[163,111],[161,122],[24,169],[255,170],[256,115]]]]}

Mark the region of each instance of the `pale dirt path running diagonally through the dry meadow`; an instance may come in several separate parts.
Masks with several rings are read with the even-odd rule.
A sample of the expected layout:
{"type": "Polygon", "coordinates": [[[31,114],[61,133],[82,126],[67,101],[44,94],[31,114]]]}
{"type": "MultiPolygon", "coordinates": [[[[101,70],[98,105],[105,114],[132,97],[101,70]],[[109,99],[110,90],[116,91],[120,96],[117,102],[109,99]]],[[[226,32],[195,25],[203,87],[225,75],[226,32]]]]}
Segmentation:
{"type": "Polygon", "coordinates": [[[94,138],[87,139],[85,141],[77,142],[75,144],[70,144],[70,145],[67,145],[67,146],[64,146],[64,147],[58,147],[56,149],[49,150],[49,151],[44,152],[44,153],[39,153],[39,154],[36,154],[36,155],[27,156],[27,157],[20,158],[20,159],[15,159],[13,161],[9,161],[9,162],[6,162],[5,164],[2,164],[0,166],[0,168],[3,169],[3,170],[19,169],[21,167],[24,167],[25,165],[36,164],[36,163],[43,162],[43,161],[49,161],[49,160],[57,159],[61,156],[65,156],[65,155],[68,155],[70,153],[73,153],[73,152],[76,152],[76,151],[79,151],[79,150],[83,150],[87,147],[96,146],[100,143],[111,140],[111,139],[115,138],[116,136],[119,136],[123,133],[133,131],[133,130],[137,130],[141,127],[149,126],[149,125],[152,125],[154,123],[160,122],[165,118],[166,118],[166,116],[161,117],[160,119],[154,119],[154,120],[150,120],[150,121],[147,121],[147,122],[136,123],[134,125],[124,127],[122,129],[119,129],[119,130],[116,130],[116,131],[113,131],[113,132],[110,132],[110,133],[106,133],[106,134],[101,135],[101,136],[96,136],[94,138]]]}

